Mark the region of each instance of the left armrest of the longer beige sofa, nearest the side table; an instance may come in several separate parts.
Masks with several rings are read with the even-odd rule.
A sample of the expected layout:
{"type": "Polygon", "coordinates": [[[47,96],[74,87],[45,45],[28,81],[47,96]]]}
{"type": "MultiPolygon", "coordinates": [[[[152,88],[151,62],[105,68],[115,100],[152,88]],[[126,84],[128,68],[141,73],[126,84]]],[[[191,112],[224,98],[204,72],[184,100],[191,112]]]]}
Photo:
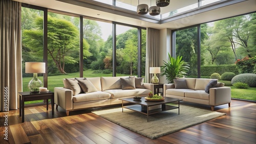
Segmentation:
{"type": "Polygon", "coordinates": [[[72,110],[73,91],[63,87],[54,87],[54,103],[65,110],[72,110]]]}

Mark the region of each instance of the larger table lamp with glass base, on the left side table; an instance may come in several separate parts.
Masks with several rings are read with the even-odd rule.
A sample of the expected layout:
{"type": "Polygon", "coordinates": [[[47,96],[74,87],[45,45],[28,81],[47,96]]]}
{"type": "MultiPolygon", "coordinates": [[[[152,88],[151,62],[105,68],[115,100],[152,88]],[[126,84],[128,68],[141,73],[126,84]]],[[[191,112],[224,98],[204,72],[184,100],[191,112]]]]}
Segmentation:
{"type": "Polygon", "coordinates": [[[37,73],[46,73],[46,63],[26,62],[25,73],[33,73],[33,78],[28,84],[30,92],[39,93],[39,87],[42,87],[42,82],[37,78],[37,73]]]}

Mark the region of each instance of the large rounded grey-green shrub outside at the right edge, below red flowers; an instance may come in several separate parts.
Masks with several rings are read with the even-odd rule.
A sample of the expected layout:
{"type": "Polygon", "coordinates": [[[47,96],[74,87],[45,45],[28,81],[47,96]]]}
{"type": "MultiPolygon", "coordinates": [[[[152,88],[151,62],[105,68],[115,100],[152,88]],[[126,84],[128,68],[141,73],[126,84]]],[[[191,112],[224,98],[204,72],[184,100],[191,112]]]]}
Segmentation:
{"type": "Polygon", "coordinates": [[[239,74],[231,80],[232,85],[238,82],[246,83],[249,87],[256,87],[256,74],[239,74]]]}

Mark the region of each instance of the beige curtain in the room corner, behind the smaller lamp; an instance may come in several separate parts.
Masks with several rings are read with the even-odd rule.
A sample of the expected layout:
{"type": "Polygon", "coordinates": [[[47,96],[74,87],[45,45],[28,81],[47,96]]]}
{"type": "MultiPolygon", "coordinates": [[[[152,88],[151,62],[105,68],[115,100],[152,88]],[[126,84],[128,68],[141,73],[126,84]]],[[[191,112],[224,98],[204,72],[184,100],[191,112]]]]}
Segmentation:
{"type": "Polygon", "coordinates": [[[147,45],[146,45],[146,69],[145,82],[151,83],[153,74],[150,74],[150,67],[159,66],[159,50],[160,50],[160,31],[157,29],[147,28],[147,45]]]}

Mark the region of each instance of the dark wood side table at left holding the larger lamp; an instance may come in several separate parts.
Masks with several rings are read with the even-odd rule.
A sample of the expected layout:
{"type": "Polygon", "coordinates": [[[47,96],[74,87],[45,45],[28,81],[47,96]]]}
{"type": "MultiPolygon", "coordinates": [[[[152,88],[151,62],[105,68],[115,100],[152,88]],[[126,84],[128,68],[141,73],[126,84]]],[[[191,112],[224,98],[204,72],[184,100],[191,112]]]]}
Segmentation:
{"type": "Polygon", "coordinates": [[[47,100],[46,110],[48,110],[49,99],[51,99],[52,104],[52,115],[54,114],[54,92],[42,92],[42,93],[30,93],[26,92],[18,92],[19,93],[19,116],[22,116],[22,123],[24,123],[24,102],[28,101],[36,101],[36,100],[47,100]]]}

